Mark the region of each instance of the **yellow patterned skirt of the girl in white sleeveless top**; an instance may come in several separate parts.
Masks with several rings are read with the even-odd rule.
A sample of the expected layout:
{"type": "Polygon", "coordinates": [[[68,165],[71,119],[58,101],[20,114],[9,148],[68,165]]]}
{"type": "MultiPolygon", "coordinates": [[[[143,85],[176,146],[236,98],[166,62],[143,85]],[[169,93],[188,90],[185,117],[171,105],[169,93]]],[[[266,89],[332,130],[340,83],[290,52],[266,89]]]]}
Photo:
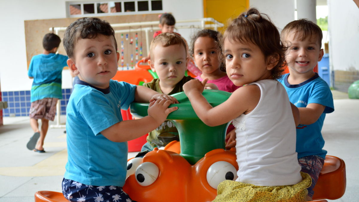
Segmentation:
{"type": "Polygon", "coordinates": [[[300,172],[302,181],[284,186],[256,186],[253,184],[225,180],[218,185],[214,202],[302,202],[306,201],[307,188],[312,178],[300,172]]]}

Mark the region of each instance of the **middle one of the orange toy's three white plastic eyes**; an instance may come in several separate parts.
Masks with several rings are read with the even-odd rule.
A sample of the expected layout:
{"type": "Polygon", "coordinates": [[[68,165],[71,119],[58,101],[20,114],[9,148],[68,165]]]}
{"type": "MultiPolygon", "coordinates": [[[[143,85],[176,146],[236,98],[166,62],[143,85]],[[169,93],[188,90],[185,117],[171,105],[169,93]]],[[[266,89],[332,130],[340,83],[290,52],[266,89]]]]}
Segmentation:
{"type": "Polygon", "coordinates": [[[144,162],[139,165],[136,169],[136,180],[142,186],[148,186],[154,183],[158,177],[158,167],[156,164],[151,162],[144,162]]]}

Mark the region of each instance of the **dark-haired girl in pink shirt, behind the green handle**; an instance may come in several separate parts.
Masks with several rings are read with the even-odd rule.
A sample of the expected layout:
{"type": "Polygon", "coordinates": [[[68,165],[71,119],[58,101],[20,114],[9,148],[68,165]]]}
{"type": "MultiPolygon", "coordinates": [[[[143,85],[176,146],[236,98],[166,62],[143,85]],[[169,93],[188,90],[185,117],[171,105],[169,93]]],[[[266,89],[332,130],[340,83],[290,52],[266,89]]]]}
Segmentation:
{"type": "Polygon", "coordinates": [[[240,86],[236,86],[225,73],[224,64],[219,60],[219,32],[212,29],[203,29],[192,38],[191,55],[202,71],[196,79],[203,81],[208,78],[208,83],[214,83],[221,91],[234,92],[240,86]]]}

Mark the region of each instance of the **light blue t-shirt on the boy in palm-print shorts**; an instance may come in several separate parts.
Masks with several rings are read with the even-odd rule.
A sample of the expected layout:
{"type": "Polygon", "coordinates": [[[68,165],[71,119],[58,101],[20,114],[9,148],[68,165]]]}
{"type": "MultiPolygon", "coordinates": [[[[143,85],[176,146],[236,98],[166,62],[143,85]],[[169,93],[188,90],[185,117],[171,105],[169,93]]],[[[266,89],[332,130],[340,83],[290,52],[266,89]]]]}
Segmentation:
{"type": "Polygon", "coordinates": [[[86,185],[125,184],[127,142],[112,142],[100,132],[122,121],[135,98],[136,86],[110,80],[100,89],[78,80],[66,109],[67,164],[65,179],[86,185]]]}

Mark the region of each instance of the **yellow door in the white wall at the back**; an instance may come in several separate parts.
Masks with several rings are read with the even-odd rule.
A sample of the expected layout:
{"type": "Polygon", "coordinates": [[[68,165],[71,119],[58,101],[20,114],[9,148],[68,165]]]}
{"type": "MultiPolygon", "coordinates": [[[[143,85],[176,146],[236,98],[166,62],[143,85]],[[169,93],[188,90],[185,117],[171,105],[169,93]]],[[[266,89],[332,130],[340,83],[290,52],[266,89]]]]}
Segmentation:
{"type": "MultiPolygon", "coordinates": [[[[204,17],[214,18],[224,25],[248,9],[249,0],[203,0],[204,17]]],[[[222,31],[223,28],[218,28],[222,31]]]]}

